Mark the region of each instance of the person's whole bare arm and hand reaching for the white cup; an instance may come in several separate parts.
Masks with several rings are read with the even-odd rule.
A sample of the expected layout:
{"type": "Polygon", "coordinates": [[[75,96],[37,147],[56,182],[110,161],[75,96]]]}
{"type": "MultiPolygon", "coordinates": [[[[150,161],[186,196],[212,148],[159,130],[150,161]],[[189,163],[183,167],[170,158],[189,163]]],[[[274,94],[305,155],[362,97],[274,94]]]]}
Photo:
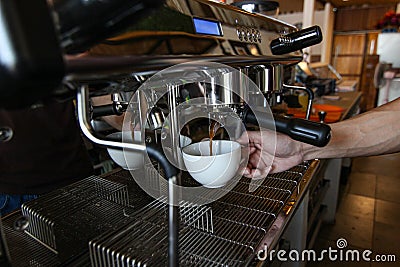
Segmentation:
{"type": "Polygon", "coordinates": [[[400,152],[400,98],[352,119],[330,124],[332,138],[325,147],[300,143],[277,133],[276,150],[268,140],[273,132],[248,132],[238,141],[250,147],[247,177],[265,177],[287,170],[304,160],[372,156],[400,152]],[[247,139],[248,138],[248,139],[247,139]],[[273,161],[272,161],[273,160],[273,161]],[[269,162],[272,166],[268,166],[269,162]]]}

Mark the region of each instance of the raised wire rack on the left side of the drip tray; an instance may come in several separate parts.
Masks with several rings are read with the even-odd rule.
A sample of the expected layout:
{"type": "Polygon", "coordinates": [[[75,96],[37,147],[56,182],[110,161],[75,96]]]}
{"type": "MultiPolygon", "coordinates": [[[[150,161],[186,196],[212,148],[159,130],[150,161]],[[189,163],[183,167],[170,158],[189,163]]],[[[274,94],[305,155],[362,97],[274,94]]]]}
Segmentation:
{"type": "Polygon", "coordinates": [[[92,176],[22,205],[26,229],[61,258],[81,253],[87,240],[126,221],[127,187],[92,176]]]}

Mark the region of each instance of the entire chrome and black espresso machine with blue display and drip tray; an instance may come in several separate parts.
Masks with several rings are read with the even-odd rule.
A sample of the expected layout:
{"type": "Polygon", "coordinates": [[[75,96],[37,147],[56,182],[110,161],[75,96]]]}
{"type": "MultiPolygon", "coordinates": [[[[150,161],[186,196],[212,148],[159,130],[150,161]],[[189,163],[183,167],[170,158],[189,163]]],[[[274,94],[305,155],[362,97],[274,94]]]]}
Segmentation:
{"type": "Polygon", "coordinates": [[[266,240],[277,244],[271,226],[300,190],[309,164],[269,177],[255,193],[241,177],[228,189],[199,193],[184,178],[179,135],[200,116],[223,127],[239,122],[230,138],[248,126],[262,127],[325,146],[329,126],[271,112],[285,90],[298,89],[309,93],[309,114],[312,92],[291,83],[299,50],[322,40],[319,27],[299,31],[207,0],[2,1],[0,11],[19,22],[2,26],[7,34],[1,42],[10,47],[2,57],[3,107],[75,95],[79,125],[90,141],[151,158],[145,168],[88,177],[24,204],[21,214],[4,219],[3,262],[154,266],[168,258],[164,265],[247,266],[266,240]],[[32,27],[42,38],[29,34],[36,31],[27,30],[32,16],[24,16],[26,10],[41,18],[32,27]],[[21,40],[25,53],[17,49],[21,40]],[[112,104],[91,105],[99,95],[110,95],[112,104]],[[92,127],[97,117],[122,114],[124,132],[141,131],[136,142],[107,138],[92,127]]]}

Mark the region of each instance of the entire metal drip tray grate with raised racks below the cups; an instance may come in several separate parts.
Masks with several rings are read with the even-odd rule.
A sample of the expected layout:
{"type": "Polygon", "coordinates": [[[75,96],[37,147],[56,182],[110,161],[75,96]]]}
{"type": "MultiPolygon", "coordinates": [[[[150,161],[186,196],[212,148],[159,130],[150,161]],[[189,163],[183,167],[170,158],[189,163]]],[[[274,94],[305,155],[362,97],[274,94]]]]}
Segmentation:
{"type": "MultiPolygon", "coordinates": [[[[181,203],[181,266],[251,265],[307,168],[305,163],[269,175],[254,192],[243,178],[208,205],[181,203]]],[[[29,235],[13,229],[18,215],[4,220],[15,266],[167,264],[167,204],[147,196],[127,171],[89,177],[42,196],[24,205],[24,214],[31,218],[29,235]]]]}

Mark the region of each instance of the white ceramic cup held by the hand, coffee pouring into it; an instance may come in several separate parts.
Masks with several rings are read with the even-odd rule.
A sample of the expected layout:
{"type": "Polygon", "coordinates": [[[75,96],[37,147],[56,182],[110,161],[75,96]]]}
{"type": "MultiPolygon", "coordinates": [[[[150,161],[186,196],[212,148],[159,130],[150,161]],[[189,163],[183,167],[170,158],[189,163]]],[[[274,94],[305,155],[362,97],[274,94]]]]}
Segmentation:
{"type": "Polygon", "coordinates": [[[213,140],[188,145],[182,149],[183,161],[190,175],[204,187],[219,188],[235,177],[240,164],[241,147],[235,141],[213,140]]]}

